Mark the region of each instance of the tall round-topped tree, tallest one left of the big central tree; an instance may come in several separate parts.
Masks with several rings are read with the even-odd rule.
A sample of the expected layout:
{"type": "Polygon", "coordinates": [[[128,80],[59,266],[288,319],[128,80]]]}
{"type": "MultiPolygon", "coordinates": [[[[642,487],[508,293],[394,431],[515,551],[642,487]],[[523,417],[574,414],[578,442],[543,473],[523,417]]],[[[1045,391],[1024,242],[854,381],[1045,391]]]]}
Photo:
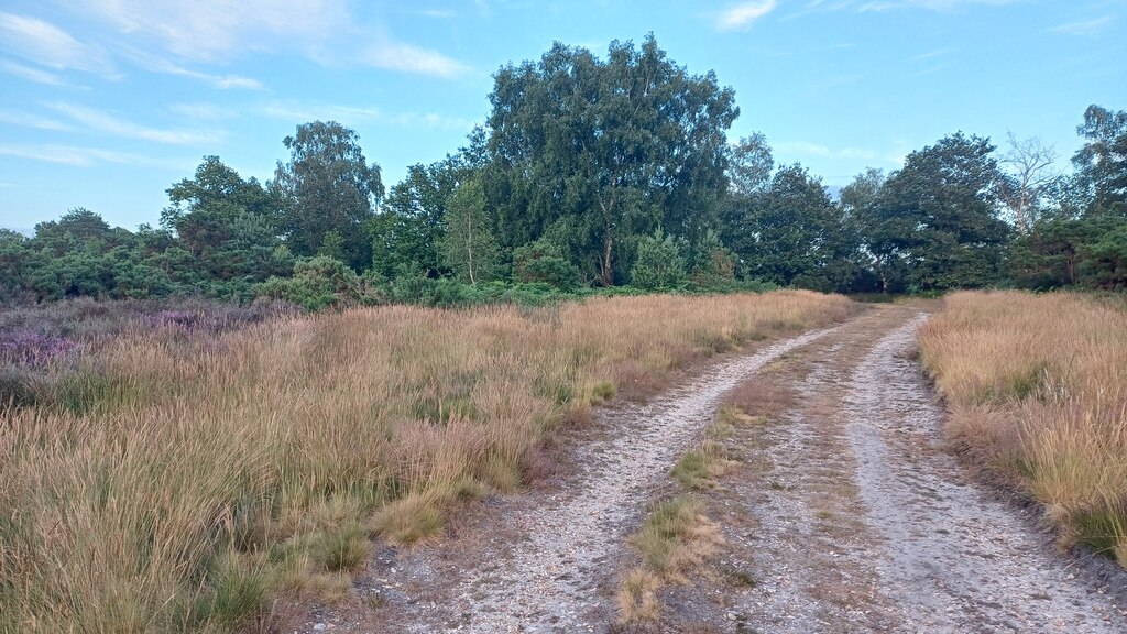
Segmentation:
{"type": "Polygon", "coordinates": [[[354,268],[367,267],[372,246],[366,224],[383,197],[380,166],[369,165],[360,138],[344,125],[314,121],[283,141],[269,190],[282,201],[282,229],[290,248],[312,256],[336,252],[354,268]]]}

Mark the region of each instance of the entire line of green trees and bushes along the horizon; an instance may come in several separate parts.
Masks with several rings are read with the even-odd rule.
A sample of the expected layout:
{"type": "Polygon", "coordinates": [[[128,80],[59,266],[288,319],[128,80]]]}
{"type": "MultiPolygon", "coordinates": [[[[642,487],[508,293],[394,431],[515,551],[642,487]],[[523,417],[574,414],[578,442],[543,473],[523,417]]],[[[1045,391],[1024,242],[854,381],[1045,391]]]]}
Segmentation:
{"type": "Polygon", "coordinates": [[[385,190],[356,133],[299,125],[266,183],[219,157],[168,188],[159,227],[78,208],[0,230],[0,293],[458,303],[584,289],[834,292],[1127,287],[1127,113],[1091,106],[1073,171],[1037,139],[956,132],[831,196],[735,94],[653,36],[606,58],[553,45],[495,74],[463,148],[385,190]]]}

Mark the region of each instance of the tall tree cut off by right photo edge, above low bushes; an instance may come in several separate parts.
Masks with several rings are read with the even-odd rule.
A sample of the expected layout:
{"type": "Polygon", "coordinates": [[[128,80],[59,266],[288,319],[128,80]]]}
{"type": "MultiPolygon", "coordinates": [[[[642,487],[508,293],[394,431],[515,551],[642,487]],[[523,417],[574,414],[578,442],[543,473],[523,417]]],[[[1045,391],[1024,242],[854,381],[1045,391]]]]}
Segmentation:
{"type": "Polygon", "coordinates": [[[1089,213],[1127,215],[1127,112],[1089,106],[1076,131],[1085,142],[1072,162],[1091,197],[1089,213]]]}

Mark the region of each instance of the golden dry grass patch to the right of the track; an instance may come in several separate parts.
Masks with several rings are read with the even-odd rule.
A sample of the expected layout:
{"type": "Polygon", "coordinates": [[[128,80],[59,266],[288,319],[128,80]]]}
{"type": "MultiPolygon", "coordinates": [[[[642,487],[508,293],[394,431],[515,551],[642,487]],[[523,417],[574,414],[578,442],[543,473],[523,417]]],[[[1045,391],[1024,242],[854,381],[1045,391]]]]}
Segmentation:
{"type": "Polygon", "coordinates": [[[956,446],[1042,503],[1064,545],[1127,566],[1127,311],[1076,294],[956,293],[920,351],[956,446]]]}

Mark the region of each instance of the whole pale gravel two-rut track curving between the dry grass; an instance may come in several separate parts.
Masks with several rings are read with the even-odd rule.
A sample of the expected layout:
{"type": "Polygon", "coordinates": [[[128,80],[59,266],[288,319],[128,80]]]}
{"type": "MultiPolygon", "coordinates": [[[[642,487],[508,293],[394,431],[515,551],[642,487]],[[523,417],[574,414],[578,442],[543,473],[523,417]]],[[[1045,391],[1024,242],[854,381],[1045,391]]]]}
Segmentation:
{"type": "Polygon", "coordinates": [[[707,494],[728,546],[640,629],[1127,632],[1122,571],[1056,554],[939,449],[941,412],[908,359],[922,318],[875,308],[604,413],[547,491],[487,501],[438,547],[378,554],[361,598],[307,631],[611,629],[625,535],[735,399],[769,422],[727,441],[743,467],[707,494]]]}

